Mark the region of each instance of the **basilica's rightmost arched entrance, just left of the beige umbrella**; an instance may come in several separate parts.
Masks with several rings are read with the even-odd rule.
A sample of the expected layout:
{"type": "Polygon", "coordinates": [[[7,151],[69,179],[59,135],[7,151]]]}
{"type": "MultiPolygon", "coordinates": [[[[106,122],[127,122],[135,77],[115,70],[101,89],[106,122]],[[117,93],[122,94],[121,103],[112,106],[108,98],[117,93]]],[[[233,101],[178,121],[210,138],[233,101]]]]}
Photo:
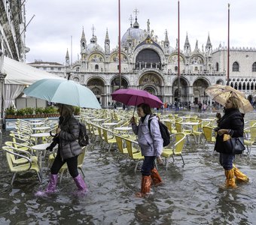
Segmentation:
{"type": "Polygon", "coordinates": [[[209,83],[203,79],[197,79],[193,84],[194,103],[198,102],[209,104],[209,96],[206,95],[206,89],[209,83]]]}

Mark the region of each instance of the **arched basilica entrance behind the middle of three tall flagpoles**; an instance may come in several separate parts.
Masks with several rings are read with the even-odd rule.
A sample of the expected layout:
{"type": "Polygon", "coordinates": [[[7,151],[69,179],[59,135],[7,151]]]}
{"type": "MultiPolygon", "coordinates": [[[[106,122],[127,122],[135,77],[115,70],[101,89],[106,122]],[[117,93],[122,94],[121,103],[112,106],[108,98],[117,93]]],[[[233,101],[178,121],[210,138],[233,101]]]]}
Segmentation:
{"type": "Polygon", "coordinates": [[[178,78],[176,78],[176,80],[172,84],[172,93],[174,94],[174,99],[172,100],[173,103],[175,101],[188,102],[187,80],[184,80],[184,78],[182,78],[182,77],[180,78],[180,87],[179,87],[180,99],[178,99],[178,78]]]}

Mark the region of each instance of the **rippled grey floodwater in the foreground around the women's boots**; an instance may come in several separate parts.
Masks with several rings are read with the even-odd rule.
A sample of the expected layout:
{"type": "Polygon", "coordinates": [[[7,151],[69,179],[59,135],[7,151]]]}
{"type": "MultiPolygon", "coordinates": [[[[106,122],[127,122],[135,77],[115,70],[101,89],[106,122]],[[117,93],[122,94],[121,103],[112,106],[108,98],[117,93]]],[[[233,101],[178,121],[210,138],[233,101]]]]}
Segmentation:
{"type": "MultiPolygon", "coordinates": [[[[255,113],[251,113],[255,117],[255,113]]],[[[6,140],[8,131],[3,132],[6,140]]],[[[117,150],[110,152],[95,145],[84,160],[89,192],[76,197],[75,182],[69,173],[52,196],[37,197],[47,186],[49,170],[44,167],[41,184],[35,173],[17,175],[11,187],[11,172],[5,154],[0,162],[0,224],[255,224],[256,151],[236,157],[236,166],[250,181],[234,190],[221,187],[224,169],[213,145],[185,145],[183,166],[175,157],[166,170],[159,166],[164,184],[152,187],[151,194],[139,199],[141,175],[134,163],[117,150]]],[[[45,163],[46,165],[46,163],[45,163]]]]}

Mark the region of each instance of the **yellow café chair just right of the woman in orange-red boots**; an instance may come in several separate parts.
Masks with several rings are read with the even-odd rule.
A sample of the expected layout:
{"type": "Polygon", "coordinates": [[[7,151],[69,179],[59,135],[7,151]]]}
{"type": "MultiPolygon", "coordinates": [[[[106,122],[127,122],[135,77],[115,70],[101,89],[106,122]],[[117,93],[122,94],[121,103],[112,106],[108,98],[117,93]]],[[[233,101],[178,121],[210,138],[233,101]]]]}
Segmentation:
{"type": "Polygon", "coordinates": [[[161,154],[161,156],[166,158],[166,169],[168,167],[169,158],[171,156],[174,162],[174,155],[180,155],[183,165],[185,164],[184,159],[182,157],[182,150],[184,147],[185,137],[185,133],[172,133],[170,135],[171,143],[167,145],[165,148],[163,148],[163,153],[161,154]],[[172,142],[172,140],[174,141],[172,142]]]}

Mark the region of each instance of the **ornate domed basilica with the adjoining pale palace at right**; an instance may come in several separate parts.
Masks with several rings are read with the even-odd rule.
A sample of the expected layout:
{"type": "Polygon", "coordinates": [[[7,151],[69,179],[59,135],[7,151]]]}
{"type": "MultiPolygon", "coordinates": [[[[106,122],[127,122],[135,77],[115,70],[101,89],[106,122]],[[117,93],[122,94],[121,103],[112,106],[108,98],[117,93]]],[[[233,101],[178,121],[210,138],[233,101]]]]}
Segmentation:
{"type": "MultiPolygon", "coordinates": [[[[112,103],[111,93],[119,89],[118,48],[111,49],[108,30],[104,47],[97,43],[96,34],[87,38],[84,29],[81,34],[81,57],[70,63],[66,53],[66,68],[70,79],[87,86],[96,95],[102,106],[112,103]]],[[[227,83],[227,48],[212,49],[210,36],[205,46],[194,49],[188,35],[180,50],[180,101],[197,102],[212,100],[205,90],[213,84],[227,83]]],[[[148,20],[146,29],[135,23],[121,38],[121,88],[143,89],[156,95],[163,102],[173,104],[178,100],[178,41],[175,47],[165,40],[157,40],[148,20]]],[[[230,49],[230,86],[245,92],[250,101],[254,100],[256,89],[256,51],[254,49],[230,49]]]]}

